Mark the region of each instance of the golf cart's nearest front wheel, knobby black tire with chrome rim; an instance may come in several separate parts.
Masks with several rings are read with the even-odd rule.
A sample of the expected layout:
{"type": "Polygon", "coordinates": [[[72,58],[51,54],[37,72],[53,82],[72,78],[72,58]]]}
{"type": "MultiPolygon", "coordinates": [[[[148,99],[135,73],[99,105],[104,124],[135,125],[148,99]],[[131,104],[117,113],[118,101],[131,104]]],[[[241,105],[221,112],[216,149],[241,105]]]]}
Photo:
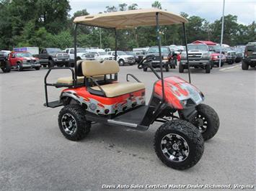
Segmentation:
{"type": "Polygon", "coordinates": [[[188,169],[203,155],[203,136],[187,121],[169,121],[157,129],[154,149],[157,157],[168,167],[188,169]]]}

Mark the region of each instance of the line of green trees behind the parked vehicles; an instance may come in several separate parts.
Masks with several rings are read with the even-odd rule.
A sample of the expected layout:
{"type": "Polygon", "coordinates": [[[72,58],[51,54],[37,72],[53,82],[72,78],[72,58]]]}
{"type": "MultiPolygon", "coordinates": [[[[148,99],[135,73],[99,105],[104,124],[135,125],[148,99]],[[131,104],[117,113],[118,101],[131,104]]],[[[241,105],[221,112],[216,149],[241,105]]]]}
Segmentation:
{"type": "MultiPolygon", "coordinates": [[[[162,9],[160,1],[154,1],[152,7],[162,9]]],[[[104,12],[139,9],[138,4],[119,4],[106,6],[104,12]]],[[[12,50],[13,47],[74,47],[74,17],[89,14],[87,9],[69,15],[68,0],[1,0],[0,1],[0,49],[12,50]]],[[[189,22],[187,42],[196,39],[220,42],[221,18],[209,23],[206,19],[181,12],[189,22]]],[[[224,17],[224,43],[245,45],[255,41],[256,24],[238,24],[237,16],[224,17]]],[[[161,26],[162,45],[184,45],[182,25],[161,26]]],[[[79,26],[77,42],[79,47],[100,47],[100,29],[79,26]]],[[[156,45],[155,27],[137,27],[118,30],[118,49],[132,50],[133,47],[156,45]]],[[[102,47],[115,47],[112,29],[102,29],[102,47]]]]}

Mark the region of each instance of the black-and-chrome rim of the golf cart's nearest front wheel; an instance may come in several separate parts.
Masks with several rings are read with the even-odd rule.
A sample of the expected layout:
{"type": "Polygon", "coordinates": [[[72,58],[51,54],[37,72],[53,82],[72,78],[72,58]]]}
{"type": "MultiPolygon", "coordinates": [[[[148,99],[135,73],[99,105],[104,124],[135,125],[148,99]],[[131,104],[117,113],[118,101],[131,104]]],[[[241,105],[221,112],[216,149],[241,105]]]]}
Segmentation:
{"type": "Polygon", "coordinates": [[[165,157],[172,162],[183,162],[189,155],[187,141],[178,134],[167,134],[162,138],[161,149],[165,157]]]}

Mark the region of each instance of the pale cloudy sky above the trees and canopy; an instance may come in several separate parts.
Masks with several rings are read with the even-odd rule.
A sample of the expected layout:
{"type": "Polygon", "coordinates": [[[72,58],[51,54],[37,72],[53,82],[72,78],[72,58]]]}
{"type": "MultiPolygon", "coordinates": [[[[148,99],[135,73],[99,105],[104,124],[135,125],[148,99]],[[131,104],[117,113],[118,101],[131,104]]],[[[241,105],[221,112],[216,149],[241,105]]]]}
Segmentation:
{"type": "MultiPolygon", "coordinates": [[[[175,14],[185,12],[190,16],[195,15],[206,19],[208,22],[214,22],[220,19],[222,15],[223,0],[159,0],[162,9],[167,9],[175,14]]],[[[118,6],[118,4],[138,4],[139,8],[151,8],[154,0],[69,0],[73,16],[75,11],[87,9],[89,14],[104,12],[106,6],[118,6]]],[[[238,17],[240,24],[251,24],[256,20],[256,0],[226,0],[225,15],[234,14],[238,17]]]]}

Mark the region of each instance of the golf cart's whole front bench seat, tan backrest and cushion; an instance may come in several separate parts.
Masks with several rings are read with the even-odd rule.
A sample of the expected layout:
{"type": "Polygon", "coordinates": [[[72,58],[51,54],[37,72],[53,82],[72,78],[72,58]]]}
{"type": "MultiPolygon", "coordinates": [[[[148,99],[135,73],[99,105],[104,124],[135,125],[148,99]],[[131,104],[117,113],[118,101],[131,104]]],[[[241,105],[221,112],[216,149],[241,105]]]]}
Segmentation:
{"type": "MultiPolygon", "coordinates": [[[[112,75],[119,72],[119,65],[118,62],[116,62],[115,60],[105,60],[103,62],[99,62],[96,60],[86,60],[82,62],[81,67],[84,76],[92,78],[94,78],[94,76],[112,75]]],[[[88,87],[89,93],[100,96],[104,95],[107,98],[114,98],[119,95],[133,93],[138,90],[144,89],[145,85],[143,83],[121,83],[118,81],[107,83],[104,85],[95,85],[92,87],[88,87]],[[102,90],[104,91],[103,93],[102,90]]]]}

